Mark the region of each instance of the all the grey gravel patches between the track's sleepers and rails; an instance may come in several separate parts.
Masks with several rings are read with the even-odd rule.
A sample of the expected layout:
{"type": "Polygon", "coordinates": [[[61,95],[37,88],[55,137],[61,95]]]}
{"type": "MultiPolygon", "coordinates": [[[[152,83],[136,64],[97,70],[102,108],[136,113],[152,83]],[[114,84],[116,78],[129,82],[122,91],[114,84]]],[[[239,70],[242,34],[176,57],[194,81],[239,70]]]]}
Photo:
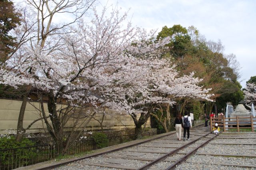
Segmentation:
{"type": "MultiPolygon", "coordinates": [[[[190,139],[196,139],[199,136],[191,136],[190,139]]],[[[227,134],[223,134],[227,135],[227,134]]],[[[236,134],[234,134],[236,135],[236,134]]],[[[240,135],[240,134],[239,134],[240,135]]],[[[256,133],[251,134],[241,134],[240,136],[253,136],[256,137],[256,133]]],[[[202,138],[202,140],[197,141],[192,146],[189,146],[187,148],[184,148],[180,150],[179,152],[189,152],[193,148],[197,147],[202,142],[208,140],[209,138],[202,138]]],[[[168,144],[168,143],[162,143],[162,146],[182,146],[183,144],[186,144],[188,142],[191,142],[186,140],[178,141],[176,139],[176,134],[173,134],[171,136],[166,136],[161,139],[155,140],[158,142],[177,142],[177,144],[168,144]],[[179,143],[180,142],[180,143],[179,143]]],[[[158,158],[160,156],[163,156],[164,154],[153,154],[153,153],[142,153],[142,152],[129,152],[128,150],[158,150],[158,151],[165,151],[170,152],[174,150],[175,148],[161,148],[161,147],[142,147],[142,146],[158,146],[154,141],[153,142],[147,142],[144,144],[141,144],[139,146],[134,146],[132,148],[126,148],[124,150],[120,150],[114,153],[108,153],[105,154],[105,156],[120,156],[120,157],[130,157],[126,156],[127,154],[135,154],[140,153],[143,154],[142,156],[138,156],[138,158],[158,158]]],[[[256,149],[254,145],[224,145],[224,144],[212,144],[212,143],[256,143],[256,139],[228,139],[228,138],[215,138],[212,140],[209,144],[204,146],[203,148],[200,148],[197,153],[219,153],[219,154],[256,154],[256,149]]],[[[159,144],[160,146],[161,144],[159,144]]],[[[166,159],[172,159],[172,160],[178,160],[180,159],[184,154],[174,154],[172,156],[169,156],[166,159]]],[[[135,157],[135,156],[133,156],[135,157]]],[[[122,162],[121,164],[114,164],[114,163],[108,163],[107,160],[110,160],[113,158],[106,158],[103,156],[97,156],[95,158],[88,158],[86,160],[80,160],[75,163],[68,164],[66,166],[62,166],[58,169],[64,169],[64,170],[116,170],[115,168],[106,168],[106,167],[99,167],[99,166],[88,166],[84,164],[87,163],[94,163],[94,164],[110,164],[110,165],[119,165],[119,166],[133,166],[133,167],[140,167],[148,163],[148,161],[142,161],[142,160],[130,160],[130,159],[123,159],[127,160],[127,162],[122,162]]],[[[118,159],[118,158],[115,158],[118,159]]],[[[241,157],[224,157],[224,156],[211,156],[211,155],[193,155],[190,158],[188,158],[188,162],[184,162],[181,165],[177,166],[176,169],[178,170],[248,170],[248,169],[254,169],[254,168],[241,168],[241,167],[235,167],[235,166],[223,166],[223,165],[217,165],[217,164],[204,164],[204,163],[211,163],[211,162],[218,162],[219,164],[247,164],[247,165],[254,165],[256,166],[256,158],[241,158],[241,157]],[[196,162],[196,163],[190,163],[190,162],[196,162]]],[[[156,169],[164,169],[170,166],[173,162],[170,161],[162,161],[158,164],[155,164],[154,166],[150,168],[156,168],[156,169]]]]}

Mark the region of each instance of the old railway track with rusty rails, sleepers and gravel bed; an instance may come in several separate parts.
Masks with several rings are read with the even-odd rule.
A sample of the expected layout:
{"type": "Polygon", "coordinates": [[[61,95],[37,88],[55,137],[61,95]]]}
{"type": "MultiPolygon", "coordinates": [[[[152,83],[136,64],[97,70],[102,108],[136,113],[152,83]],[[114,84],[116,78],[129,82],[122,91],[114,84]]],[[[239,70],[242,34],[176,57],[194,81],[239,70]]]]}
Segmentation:
{"type": "Polygon", "coordinates": [[[215,169],[216,166],[217,168],[220,167],[220,169],[224,168],[225,170],[229,169],[229,167],[230,169],[254,169],[256,168],[256,155],[252,153],[256,152],[254,149],[256,144],[255,140],[256,133],[220,133],[213,135],[210,133],[209,128],[198,126],[190,130],[190,140],[186,140],[185,142],[183,140],[177,140],[176,134],[170,134],[112,152],[88,156],[76,162],[66,162],[65,165],[58,168],[49,166],[41,169],[171,170],[176,168],[180,170],[191,170],[215,169]],[[252,142],[248,142],[248,139],[252,139],[252,142]],[[224,142],[225,140],[231,142],[224,142]],[[220,151],[219,148],[225,148],[227,146],[231,148],[239,146],[240,148],[241,143],[235,140],[242,140],[242,145],[246,146],[246,149],[252,152],[248,152],[247,154],[234,154],[232,152],[220,151]],[[208,148],[208,151],[204,148],[208,148]],[[228,163],[233,157],[240,162],[228,163]],[[241,163],[246,161],[254,163],[241,163]]]}

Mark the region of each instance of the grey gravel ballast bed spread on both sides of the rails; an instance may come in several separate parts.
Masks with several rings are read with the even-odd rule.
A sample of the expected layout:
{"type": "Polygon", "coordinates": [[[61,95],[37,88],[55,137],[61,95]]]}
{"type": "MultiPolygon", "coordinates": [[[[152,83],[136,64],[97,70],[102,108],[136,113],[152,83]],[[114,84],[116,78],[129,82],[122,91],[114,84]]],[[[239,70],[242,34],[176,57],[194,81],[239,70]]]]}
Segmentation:
{"type": "MultiPolygon", "coordinates": [[[[210,137],[214,136],[210,134],[207,137],[202,138],[201,140],[196,141],[194,144],[183,148],[178,152],[188,153],[193,148],[196,148],[200,144],[204,143],[206,140],[210,139],[210,137]]],[[[133,167],[139,168],[144,166],[145,164],[149,163],[149,160],[159,158],[163,156],[163,153],[148,153],[151,151],[158,151],[158,152],[170,152],[175,150],[176,148],[164,148],[164,146],[176,146],[180,147],[188,142],[191,142],[193,139],[200,137],[200,135],[194,134],[191,136],[191,140],[188,141],[178,141],[176,138],[176,134],[172,134],[170,136],[165,136],[161,139],[157,139],[154,141],[150,141],[144,144],[140,144],[138,146],[133,146],[130,148],[125,148],[124,150],[120,150],[117,152],[112,152],[108,154],[104,154],[97,157],[88,158],[85,160],[80,160],[78,162],[70,163],[66,166],[62,166],[58,169],[65,169],[65,170],[116,170],[118,168],[107,168],[107,167],[100,167],[100,166],[90,166],[86,164],[107,164],[107,165],[114,165],[114,166],[126,166],[126,167],[133,167]],[[162,142],[162,143],[161,143],[162,142]],[[173,142],[173,143],[172,143],[173,142]],[[161,147],[161,145],[163,147],[161,147]],[[144,150],[142,152],[142,150],[144,150]],[[133,154],[138,154],[134,156],[133,154]],[[141,155],[140,155],[141,154],[141,155]],[[129,156],[130,155],[130,156],[129,156]],[[133,156],[131,156],[133,155],[133,156]],[[118,164],[113,163],[111,160],[113,159],[121,159],[118,157],[122,157],[121,162],[118,164]],[[128,157],[133,157],[133,159],[128,159],[128,157]],[[136,160],[136,158],[144,158],[149,160],[136,160]]],[[[190,156],[185,162],[176,166],[177,170],[249,170],[249,169],[256,169],[256,158],[253,156],[256,155],[256,133],[246,133],[246,134],[239,134],[239,133],[232,133],[232,134],[219,134],[217,138],[211,140],[210,143],[206,144],[204,147],[199,148],[196,153],[190,156]],[[233,136],[232,136],[233,135],[233,136]],[[218,137],[226,137],[232,136],[232,138],[218,138],[218,137]],[[236,137],[247,137],[247,138],[236,138],[236,137]],[[252,138],[249,138],[252,137],[252,138]],[[234,144],[235,143],[235,144],[234,144]],[[248,145],[252,144],[252,145],[248,145]],[[200,155],[200,154],[206,155],[200,155]],[[208,155],[209,154],[209,155],[208,155]],[[232,154],[236,156],[214,156],[210,154],[232,154]],[[241,157],[238,155],[250,155],[252,157],[241,157]],[[228,166],[230,165],[230,166],[228,166]],[[239,166],[240,165],[240,166],[239,166]],[[248,166],[248,167],[242,167],[248,166]]],[[[176,160],[182,158],[184,154],[173,154],[166,158],[165,160],[168,161],[161,161],[157,164],[154,164],[150,168],[152,169],[165,169],[168,166],[172,165],[176,160]]]]}

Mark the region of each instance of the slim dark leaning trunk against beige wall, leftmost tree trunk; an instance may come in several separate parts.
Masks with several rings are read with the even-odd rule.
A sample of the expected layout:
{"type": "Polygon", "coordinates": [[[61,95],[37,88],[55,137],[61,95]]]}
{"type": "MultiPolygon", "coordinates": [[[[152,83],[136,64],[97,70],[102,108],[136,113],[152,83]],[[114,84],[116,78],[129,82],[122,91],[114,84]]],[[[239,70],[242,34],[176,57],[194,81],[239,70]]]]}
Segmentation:
{"type": "Polygon", "coordinates": [[[26,105],[27,105],[27,98],[31,88],[32,88],[32,85],[28,85],[26,87],[25,94],[23,95],[23,98],[22,98],[22,104],[20,107],[20,113],[19,113],[18,125],[17,125],[17,135],[16,135],[17,142],[20,142],[22,140],[22,136],[24,134],[23,120],[24,120],[24,114],[25,114],[26,105]]]}

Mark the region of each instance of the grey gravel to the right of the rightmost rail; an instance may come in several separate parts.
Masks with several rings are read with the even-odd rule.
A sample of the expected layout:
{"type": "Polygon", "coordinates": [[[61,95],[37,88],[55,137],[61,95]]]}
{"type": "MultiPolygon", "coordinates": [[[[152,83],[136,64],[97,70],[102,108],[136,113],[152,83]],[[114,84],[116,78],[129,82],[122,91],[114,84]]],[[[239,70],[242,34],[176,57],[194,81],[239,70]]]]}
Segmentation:
{"type": "MultiPolygon", "coordinates": [[[[223,134],[226,135],[226,134],[223,134]]],[[[241,134],[242,135],[242,134],[241,134]]],[[[255,136],[255,134],[246,134],[255,136]]],[[[201,142],[201,141],[200,141],[201,142]]],[[[255,145],[224,145],[211,143],[255,143],[254,139],[224,139],[215,138],[203,148],[199,148],[197,153],[218,153],[218,154],[256,154],[255,145]]],[[[217,162],[219,164],[247,164],[256,166],[256,158],[231,157],[231,156],[212,156],[212,155],[193,155],[188,158],[188,162],[184,162],[176,167],[176,170],[249,170],[254,168],[242,168],[235,166],[223,166],[217,164],[204,164],[217,162]],[[189,163],[196,162],[196,163],[189,163]],[[199,164],[198,164],[199,163],[199,164]],[[200,164],[201,163],[201,164],[200,164]]]]}

